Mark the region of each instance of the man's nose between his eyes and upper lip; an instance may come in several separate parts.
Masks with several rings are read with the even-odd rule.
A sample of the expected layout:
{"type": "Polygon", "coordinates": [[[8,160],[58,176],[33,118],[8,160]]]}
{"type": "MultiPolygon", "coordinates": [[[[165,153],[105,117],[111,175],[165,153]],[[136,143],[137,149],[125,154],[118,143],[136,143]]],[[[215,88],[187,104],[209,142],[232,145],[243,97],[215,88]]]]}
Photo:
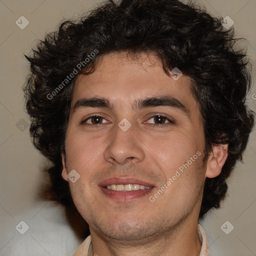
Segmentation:
{"type": "Polygon", "coordinates": [[[143,143],[131,127],[123,131],[117,125],[104,150],[104,159],[112,164],[140,162],[144,159],[143,143]]]}

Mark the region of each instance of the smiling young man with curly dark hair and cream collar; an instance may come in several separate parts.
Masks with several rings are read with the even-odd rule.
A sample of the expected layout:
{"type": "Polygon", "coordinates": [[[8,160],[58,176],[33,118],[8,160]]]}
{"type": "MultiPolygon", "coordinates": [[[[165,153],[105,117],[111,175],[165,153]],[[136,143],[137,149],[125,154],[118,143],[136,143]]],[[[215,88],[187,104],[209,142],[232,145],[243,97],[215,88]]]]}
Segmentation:
{"type": "Polygon", "coordinates": [[[198,219],[219,207],[253,126],[233,42],[192,4],[121,0],[63,22],[27,56],[53,199],[71,194],[89,225],[73,255],[208,255],[198,219]]]}

